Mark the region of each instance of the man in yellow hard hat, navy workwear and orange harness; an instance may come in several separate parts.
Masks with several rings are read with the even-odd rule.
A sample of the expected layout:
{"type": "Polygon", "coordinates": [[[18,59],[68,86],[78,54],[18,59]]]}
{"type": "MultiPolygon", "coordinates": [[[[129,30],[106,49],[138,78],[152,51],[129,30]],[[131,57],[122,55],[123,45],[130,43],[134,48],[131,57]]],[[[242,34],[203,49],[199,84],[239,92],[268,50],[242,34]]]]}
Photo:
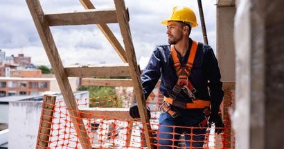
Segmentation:
{"type": "MultiPolygon", "coordinates": [[[[218,61],[210,46],[189,37],[191,28],[198,26],[193,10],[175,7],[161,23],[168,28],[169,44],[154,49],[141,75],[145,99],[161,77],[159,90],[165,98],[159,108],[157,147],[177,148],[184,133],[186,148],[202,148],[206,118],[215,123],[218,134],[224,128],[218,114],[224,96],[218,61]]],[[[136,103],[130,115],[140,117],[136,103]]]]}

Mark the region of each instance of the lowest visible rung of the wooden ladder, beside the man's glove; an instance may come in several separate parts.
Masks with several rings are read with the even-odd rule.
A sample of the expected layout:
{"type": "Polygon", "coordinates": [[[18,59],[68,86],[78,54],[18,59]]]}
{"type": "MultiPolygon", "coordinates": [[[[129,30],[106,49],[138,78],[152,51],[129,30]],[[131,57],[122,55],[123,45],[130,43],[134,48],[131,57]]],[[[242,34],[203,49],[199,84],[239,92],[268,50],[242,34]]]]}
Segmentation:
{"type": "Polygon", "coordinates": [[[119,119],[133,121],[129,108],[80,108],[80,116],[88,119],[119,119]]]}

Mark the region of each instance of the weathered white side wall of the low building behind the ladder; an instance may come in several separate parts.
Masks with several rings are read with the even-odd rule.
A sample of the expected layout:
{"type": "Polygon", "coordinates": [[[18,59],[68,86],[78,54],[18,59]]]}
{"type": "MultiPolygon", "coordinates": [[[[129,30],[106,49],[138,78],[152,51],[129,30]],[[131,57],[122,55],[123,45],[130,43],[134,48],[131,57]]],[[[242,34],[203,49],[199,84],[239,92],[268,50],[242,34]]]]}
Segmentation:
{"type": "MultiPolygon", "coordinates": [[[[76,99],[88,99],[89,92],[74,93],[76,99]]],[[[62,101],[58,95],[56,101],[62,101]]],[[[35,148],[42,101],[13,101],[9,103],[8,148],[35,148]]]]}

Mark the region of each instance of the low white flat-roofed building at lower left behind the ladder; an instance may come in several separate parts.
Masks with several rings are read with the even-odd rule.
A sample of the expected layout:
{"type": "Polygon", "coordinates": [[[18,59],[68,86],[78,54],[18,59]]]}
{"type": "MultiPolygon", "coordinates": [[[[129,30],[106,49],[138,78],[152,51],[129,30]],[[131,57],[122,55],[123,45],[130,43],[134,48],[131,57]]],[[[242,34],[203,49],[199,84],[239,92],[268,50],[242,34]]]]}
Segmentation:
{"type": "MultiPolygon", "coordinates": [[[[50,95],[56,95],[56,102],[62,104],[64,99],[61,94],[50,95]]],[[[88,91],[73,92],[73,95],[76,99],[83,99],[84,103],[87,102],[85,99],[89,99],[88,91]]],[[[42,99],[43,96],[0,98],[0,126],[8,126],[8,129],[0,130],[0,148],[35,148],[42,99]]]]}

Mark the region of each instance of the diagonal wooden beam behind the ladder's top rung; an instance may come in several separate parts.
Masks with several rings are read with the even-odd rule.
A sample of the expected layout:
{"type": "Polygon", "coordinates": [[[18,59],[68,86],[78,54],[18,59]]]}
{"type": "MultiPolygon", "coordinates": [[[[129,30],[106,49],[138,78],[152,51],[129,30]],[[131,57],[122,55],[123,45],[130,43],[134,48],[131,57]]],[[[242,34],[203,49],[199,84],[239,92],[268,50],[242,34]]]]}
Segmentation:
{"type": "MultiPolygon", "coordinates": [[[[90,0],[79,0],[82,3],[82,6],[84,6],[85,9],[95,9],[94,5],[91,3],[90,0]]],[[[129,20],[129,17],[128,17],[129,20]]],[[[98,28],[100,28],[100,31],[103,32],[109,43],[112,45],[114,50],[116,50],[119,57],[121,57],[121,60],[124,63],[127,63],[126,53],[123,49],[123,46],[121,46],[121,43],[119,43],[118,39],[114,36],[112,33],[112,30],[109,29],[109,26],[105,23],[97,24],[98,28]]]]}

